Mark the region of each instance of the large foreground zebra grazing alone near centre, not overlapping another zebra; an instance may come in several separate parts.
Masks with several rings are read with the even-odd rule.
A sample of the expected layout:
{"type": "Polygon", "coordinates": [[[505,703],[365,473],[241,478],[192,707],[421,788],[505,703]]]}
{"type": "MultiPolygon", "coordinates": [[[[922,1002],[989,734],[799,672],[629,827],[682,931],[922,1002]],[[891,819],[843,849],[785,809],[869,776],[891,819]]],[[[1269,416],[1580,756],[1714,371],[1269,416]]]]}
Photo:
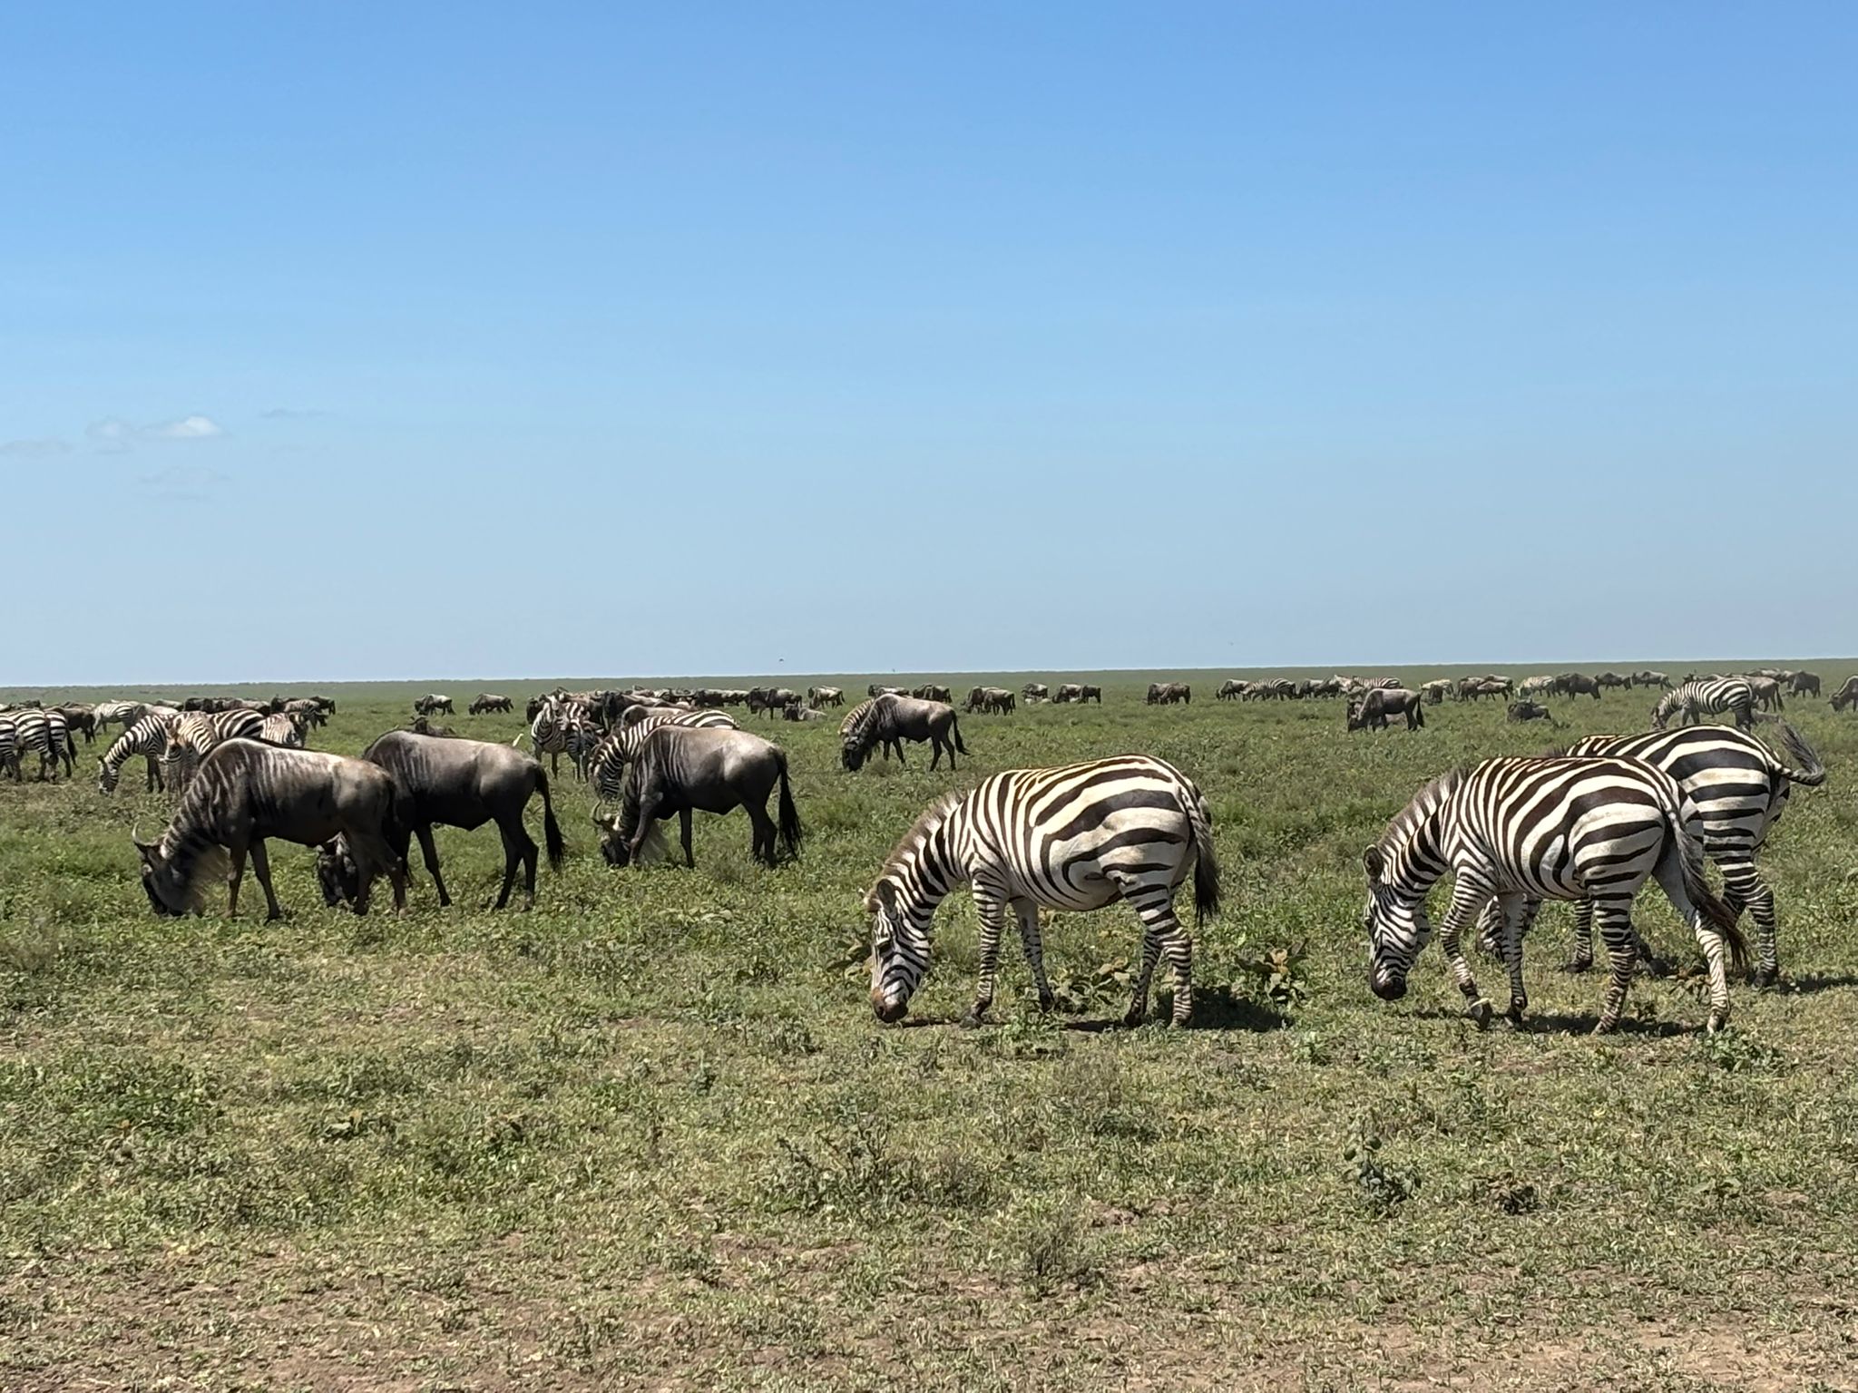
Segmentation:
{"type": "Polygon", "coordinates": [[[1174,1023],[1193,1018],[1193,940],[1174,918],[1174,890],[1193,873],[1197,921],[1219,912],[1213,823],[1200,789],[1146,754],[1013,769],[970,793],[948,793],[916,819],[864,899],[871,914],[871,1010],[896,1022],[929,971],[936,905],[962,880],[981,918],[981,977],[964,1025],[994,1001],[1007,910],[1039,988],[1053,1005],[1039,942],[1039,908],[1096,910],[1126,899],[1143,921],[1143,966],[1124,1025],[1148,1014],[1148,983],[1165,955],[1174,1023]]]}

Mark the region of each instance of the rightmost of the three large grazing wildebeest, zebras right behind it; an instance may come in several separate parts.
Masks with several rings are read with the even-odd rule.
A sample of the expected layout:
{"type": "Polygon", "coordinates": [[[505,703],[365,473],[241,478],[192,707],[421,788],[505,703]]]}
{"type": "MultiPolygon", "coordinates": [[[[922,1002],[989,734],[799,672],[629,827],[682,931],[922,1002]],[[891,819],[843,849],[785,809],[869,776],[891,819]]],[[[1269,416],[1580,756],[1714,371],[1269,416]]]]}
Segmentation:
{"type": "Polygon", "coordinates": [[[751,854],[756,860],[779,864],[777,841],[788,856],[799,853],[805,834],[788,786],[788,756],[779,745],[747,730],[658,726],[626,769],[619,814],[600,821],[600,854],[611,866],[637,860],[658,823],[676,814],[684,864],[695,866],[691,812],[726,814],[738,806],[754,825],[751,854]],[[779,823],[767,815],[767,795],[777,784],[779,823]]]}

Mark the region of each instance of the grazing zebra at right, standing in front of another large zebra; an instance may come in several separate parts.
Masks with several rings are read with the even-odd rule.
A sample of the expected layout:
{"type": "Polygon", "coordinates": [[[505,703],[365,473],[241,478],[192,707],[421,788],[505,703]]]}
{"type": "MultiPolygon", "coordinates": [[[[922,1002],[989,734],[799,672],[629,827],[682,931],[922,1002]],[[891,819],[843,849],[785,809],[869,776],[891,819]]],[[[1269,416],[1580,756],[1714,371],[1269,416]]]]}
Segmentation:
{"type": "Polygon", "coordinates": [[[1522,936],[1529,901],[1592,901],[1613,977],[1594,1033],[1611,1031],[1639,966],[1631,901],[1652,877],[1683,916],[1709,962],[1709,1029],[1730,1018],[1724,947],[1741,968],[1748,945],[1735,914],[1704,879],[1704,836],[1696,810],[1661,769],[1641,760],[1485,760],[1434,778],[1366,851],[1373,951],[1367,983],[1382,1001],[1407,994],[1407,973],[1433,934],[1425,897],[1451,871],[1451,908],[1438,944],[1464,992],[1466,1012],[1483,1025],[1490,1003],[1479,996],[1459,947],[1485,903],[1496,895],[1499,949],[1509,970],[1512,1022],[1529,997],[1522,984],[1522,936]]]}

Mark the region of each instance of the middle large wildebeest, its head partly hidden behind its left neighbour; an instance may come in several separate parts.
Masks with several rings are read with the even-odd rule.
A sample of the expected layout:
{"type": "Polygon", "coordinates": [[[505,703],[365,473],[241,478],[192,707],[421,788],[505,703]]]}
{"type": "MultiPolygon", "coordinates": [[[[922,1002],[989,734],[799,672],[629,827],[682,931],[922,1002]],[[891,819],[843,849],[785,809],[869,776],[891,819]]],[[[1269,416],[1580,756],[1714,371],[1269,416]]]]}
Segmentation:
{"type": "MultiPolygon", "coordinates": [[[[360,756],[394,776],[399,806],[388,845],[401,860],[412,838],[420,840],[420,856],[438,890],[438,905],[451,903],[444,877],[438,873],[438,847],[433,845],[433,825],[459,827],[474,832],[485,823],[496,823],[504,838],[504,888],[492,908],[509,905],[517,867],[522,867],[522,908],[535,905],[535,838],[522,825],[530,799],[543,795],[543,840],[548,843],[548,867],[561,869],[567,845],[556,821],[556,804],[548,797],[548,773],[543,762],[509,745],[481,739],[435,739],[407,730],[388,730],[360,756]]],[[[355,856],[346,838],[334,838],[316,854],[316,875],[329,905],[353,901],[360,886],[355,856]]]]}

